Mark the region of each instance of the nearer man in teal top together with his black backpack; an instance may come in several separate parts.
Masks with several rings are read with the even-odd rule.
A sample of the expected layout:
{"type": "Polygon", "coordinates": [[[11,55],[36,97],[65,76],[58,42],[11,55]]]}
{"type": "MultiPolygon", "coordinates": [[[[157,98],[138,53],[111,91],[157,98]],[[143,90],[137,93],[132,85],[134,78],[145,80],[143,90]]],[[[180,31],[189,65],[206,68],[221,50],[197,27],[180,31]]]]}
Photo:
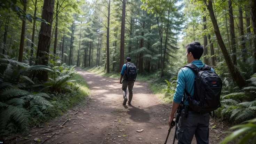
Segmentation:
{"type": "Polygon", "coordinates": [[[199,60],[202,54],[203,46],[199,42],[187,44],[186,58],[190,64],[178,72],[169,117],[172,128],[171,121],[184,96],[177,124],[178,144],[191,144],[194,135],[197,144],[208,144],[210,113],[221,106],[222,81],[210,66],[199,60]]]}

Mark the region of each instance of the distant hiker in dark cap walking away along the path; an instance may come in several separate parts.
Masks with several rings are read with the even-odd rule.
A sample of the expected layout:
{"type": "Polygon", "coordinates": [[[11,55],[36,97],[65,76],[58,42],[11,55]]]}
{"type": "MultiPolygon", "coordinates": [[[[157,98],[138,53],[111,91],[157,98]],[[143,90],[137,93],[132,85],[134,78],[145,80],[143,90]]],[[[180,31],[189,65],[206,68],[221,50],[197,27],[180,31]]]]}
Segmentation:
{"type": "Polygon", "coordinates": [[[128,105],[131,106],[131,99],[133,98],[133,86],[137,77],[136,66],[131,63],[131,58],[127,57],[125,60],[126,64],[123,65],[120,77],[120,83],[122,84],[123,91],[123,105],[126,105],[127,102],[127,87],[129,91],[129,101],[128,105]]]}

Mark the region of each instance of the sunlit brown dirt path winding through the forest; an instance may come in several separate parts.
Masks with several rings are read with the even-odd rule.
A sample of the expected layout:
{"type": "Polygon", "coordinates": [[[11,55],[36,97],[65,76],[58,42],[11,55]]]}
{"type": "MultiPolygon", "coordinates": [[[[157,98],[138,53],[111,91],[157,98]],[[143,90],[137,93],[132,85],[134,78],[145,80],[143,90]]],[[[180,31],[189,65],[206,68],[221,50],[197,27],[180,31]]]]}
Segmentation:
{"type": "MultiPolygon", "coordinates": [[[[46,130],[58,128],[54,125],[61,125],[65,121],[64,118],[71,119],[63,125],[63,128],[45,134],[39,130],[32,134],[31,139],[37,136],[43,141],[47,136],[57,132],[45,143],[163,144],[165,142],[169,128],[170,107],[161,104],[157,97],[150,94],[147,83],[136,81],[132,106],[123,106],[121,84],[118,79],[101,77],[83,70],[77,71],[89,84],[92,101],[83,102],[70,110],[63,115],[63,119],[59,118],[58,121],[51,122],[46,130]],[[138,133],[136,131],[138,128],[144,131],[138,133]]],[[[168,143],[172,143],[173,135],[174,129],[171,130],[168,143]]],[[[216,133],[210,134],[210,143],[218,143],[216,136],[218,136],[216,133]]],[[[196,143],[195,140],[193,143],[196,143]]]]}

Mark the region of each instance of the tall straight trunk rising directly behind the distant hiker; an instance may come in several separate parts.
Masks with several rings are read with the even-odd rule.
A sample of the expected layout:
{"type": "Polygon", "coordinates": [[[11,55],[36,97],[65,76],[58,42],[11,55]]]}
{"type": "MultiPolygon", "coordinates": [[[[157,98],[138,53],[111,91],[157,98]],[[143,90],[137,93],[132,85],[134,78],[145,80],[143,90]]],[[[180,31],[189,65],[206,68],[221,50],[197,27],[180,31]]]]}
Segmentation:
{"type": "Polygon", "coordinates": [[[122,8],[119,72],[122,71],[124,60],[125,60],[125,0],[123,0],[123,8],[122,8]]]}

